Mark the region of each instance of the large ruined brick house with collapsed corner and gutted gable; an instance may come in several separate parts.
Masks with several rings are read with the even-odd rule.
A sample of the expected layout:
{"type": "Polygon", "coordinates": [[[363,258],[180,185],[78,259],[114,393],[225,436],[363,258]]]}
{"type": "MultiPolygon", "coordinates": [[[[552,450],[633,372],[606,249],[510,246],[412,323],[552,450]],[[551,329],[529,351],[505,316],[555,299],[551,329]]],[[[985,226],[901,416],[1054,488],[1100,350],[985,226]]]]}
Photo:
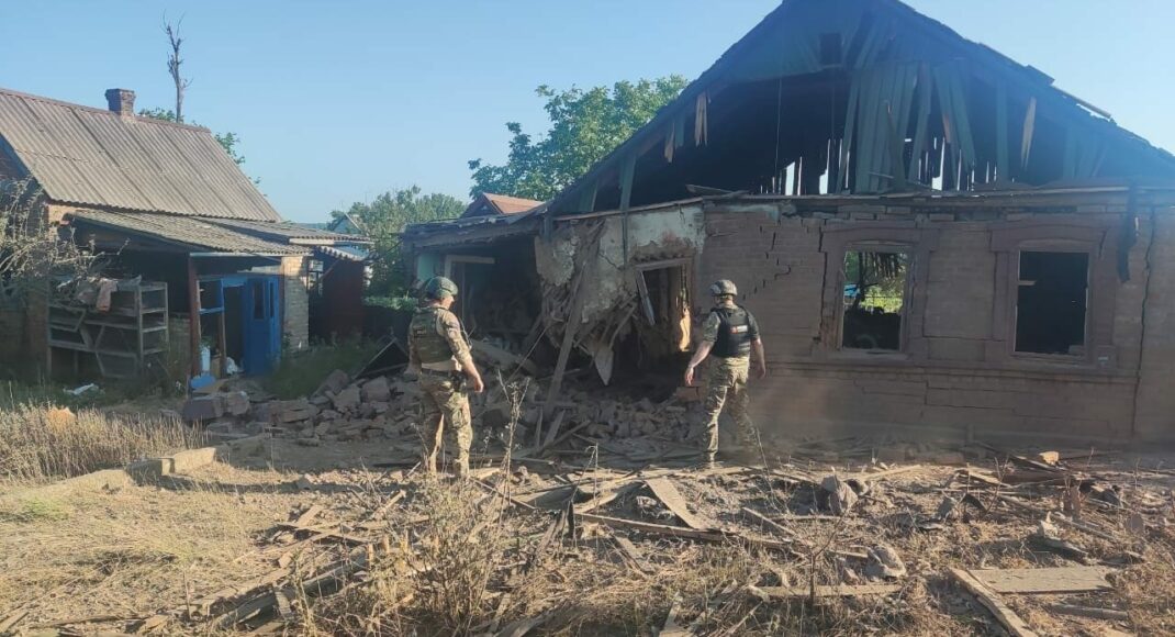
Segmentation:
{"type": "Polygon", "coordinates": [[[545,342],[556,385],[569,364],[676,380],[727,277],[761,326],[753,415],[774,431],[1159,440],[1173,177],[1107,113],[901,2],[786,0],[552,201],[405,243],[421,279],[479,268],[471,294],[496,302],[466,318],[512,316],[475,335],[545,342]]]}

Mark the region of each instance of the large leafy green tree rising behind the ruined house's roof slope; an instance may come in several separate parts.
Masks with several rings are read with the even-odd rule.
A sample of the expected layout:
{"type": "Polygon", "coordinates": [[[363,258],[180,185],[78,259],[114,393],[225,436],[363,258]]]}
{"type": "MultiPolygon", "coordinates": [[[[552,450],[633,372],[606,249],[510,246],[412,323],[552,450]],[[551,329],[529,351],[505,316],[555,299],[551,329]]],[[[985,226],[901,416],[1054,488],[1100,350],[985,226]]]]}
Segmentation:
{"type": "Polygon", "coordinates": [[[685,78],[670,75],[586,90],[538,87],[538,96],[546,99],[544,108],[551,128],[535,141],[521,123],[506,123],[513,135],[506,162],[494,166],[479,159],[470,161],[474,179],[470,193],[551,199],[647,123],[686,83],[685,78]]]}

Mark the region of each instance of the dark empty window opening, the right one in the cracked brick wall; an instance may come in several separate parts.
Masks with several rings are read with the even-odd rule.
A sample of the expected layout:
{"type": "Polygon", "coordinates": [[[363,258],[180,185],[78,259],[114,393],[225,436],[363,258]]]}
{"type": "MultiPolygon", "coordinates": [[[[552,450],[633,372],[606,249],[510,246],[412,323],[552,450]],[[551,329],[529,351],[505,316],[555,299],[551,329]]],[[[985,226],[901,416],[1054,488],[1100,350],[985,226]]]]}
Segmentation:
{"type": "Polygon", "coordinates": [[[1082,355],[1089,254],[1021,252],[1016,286],[1016,351],[1082,355]]]}

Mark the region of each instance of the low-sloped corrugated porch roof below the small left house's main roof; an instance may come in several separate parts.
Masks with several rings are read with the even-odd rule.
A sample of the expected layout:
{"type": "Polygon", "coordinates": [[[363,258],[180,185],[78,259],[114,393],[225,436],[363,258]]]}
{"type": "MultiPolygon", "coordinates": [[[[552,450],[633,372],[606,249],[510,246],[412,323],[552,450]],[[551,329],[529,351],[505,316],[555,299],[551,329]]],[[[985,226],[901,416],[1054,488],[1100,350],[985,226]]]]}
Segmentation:
{"type": "Polygon", "coordinates": [[[75,224],[95,224],[177,243],[193,252],[256,254],[267,256],[310,254],[303,246],[267,241],[248,233],[226,228],[210,219],[152,213],[76,210],[66,215],[75,224]]]}

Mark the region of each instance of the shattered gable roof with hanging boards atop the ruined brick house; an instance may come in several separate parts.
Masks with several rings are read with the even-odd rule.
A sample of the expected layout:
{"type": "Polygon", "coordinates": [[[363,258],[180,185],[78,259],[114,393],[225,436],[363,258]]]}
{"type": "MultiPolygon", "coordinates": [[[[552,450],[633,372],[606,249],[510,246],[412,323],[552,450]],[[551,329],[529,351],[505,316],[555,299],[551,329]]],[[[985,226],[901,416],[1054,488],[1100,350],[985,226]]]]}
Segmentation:
{"type": "Polygon", "coordinates": [[[784,0],[549,209],[625,209],[691,183],[865,194],[1106,176],[1171,179],[1175,156],[898,0],[784,0]],[[740,123],[753,130],[731,139],[740,123]]]}

